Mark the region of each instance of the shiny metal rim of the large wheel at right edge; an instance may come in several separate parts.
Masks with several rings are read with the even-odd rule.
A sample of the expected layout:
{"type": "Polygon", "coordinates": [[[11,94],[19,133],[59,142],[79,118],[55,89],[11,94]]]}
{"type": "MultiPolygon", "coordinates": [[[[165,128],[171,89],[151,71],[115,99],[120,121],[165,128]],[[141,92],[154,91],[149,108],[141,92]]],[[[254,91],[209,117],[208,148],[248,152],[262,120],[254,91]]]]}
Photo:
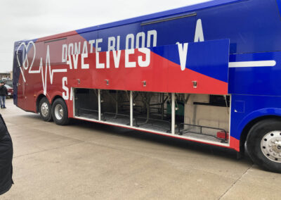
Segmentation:
{"type": "Polygon", "coordinates": [[[281,163],[281,130],[268,132],[263,137],[261,151],[270,161],[281,163]]]}

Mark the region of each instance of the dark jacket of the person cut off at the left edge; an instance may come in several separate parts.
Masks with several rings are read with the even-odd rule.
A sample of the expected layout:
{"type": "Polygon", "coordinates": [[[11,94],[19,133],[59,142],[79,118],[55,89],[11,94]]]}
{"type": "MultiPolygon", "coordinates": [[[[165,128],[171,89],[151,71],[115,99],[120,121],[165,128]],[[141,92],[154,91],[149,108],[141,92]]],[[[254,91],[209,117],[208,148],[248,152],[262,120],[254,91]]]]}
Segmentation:
{"type": "Polygon", "coordinates": [[[0,114],[0,195],[13,185],[13,142],[0,114]]]}

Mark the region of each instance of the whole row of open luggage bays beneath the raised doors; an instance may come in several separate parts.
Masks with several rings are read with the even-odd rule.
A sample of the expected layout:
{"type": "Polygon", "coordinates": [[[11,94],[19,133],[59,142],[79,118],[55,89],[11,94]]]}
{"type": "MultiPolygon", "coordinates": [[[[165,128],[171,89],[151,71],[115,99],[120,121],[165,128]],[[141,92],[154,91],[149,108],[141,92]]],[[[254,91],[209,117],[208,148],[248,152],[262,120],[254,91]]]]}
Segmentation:
{"type": "Polygon", "coordinates": [[[230,96],[227,95],[76,88],[74,108],[77,117],[106,123],[203,141],[228,143],[229,140],[230,96]]]}

